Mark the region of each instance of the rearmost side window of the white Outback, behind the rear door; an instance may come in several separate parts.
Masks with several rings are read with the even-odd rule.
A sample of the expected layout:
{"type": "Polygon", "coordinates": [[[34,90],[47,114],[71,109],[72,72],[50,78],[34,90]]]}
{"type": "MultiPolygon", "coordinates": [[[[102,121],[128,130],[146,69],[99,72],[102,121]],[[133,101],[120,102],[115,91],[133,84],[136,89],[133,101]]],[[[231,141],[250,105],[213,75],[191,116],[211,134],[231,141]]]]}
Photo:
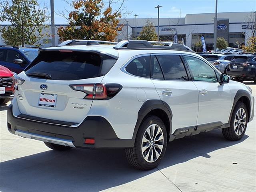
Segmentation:
{"type": "Polygon", "coordinates": [[[135,76],[150,78],[150,56],[142,56],[132,60],[125,70],[135,76]]]}

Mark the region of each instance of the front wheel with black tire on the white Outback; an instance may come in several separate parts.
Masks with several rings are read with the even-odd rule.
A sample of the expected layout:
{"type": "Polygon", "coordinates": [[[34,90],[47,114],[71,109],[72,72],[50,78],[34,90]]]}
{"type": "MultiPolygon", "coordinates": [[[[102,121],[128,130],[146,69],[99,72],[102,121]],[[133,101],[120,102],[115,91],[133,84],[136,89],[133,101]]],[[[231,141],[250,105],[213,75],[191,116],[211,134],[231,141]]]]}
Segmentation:
{"type": "Polygon", "coordinates": [[[239,102],[237,102],[237,104],[234,108],[234,111],[232,113],[230,127],[222,129],[222,134],[223,134],[224,138],[226,138],[227,140],[230,140],[230,141],[240,140],[244,136],[244,133],[245,133],[246,127],[247,127],[247,123],[248,123],[247,108],[243,102],[239,101],[239,102]],[[245,114],[245,117],[244,117],[244,114],[245,114]],[[235,123],[235,121],[236,121],[236,123],[235,123]],[[236,124],[236,126],[235,126],[235,124],[236,124]]]}

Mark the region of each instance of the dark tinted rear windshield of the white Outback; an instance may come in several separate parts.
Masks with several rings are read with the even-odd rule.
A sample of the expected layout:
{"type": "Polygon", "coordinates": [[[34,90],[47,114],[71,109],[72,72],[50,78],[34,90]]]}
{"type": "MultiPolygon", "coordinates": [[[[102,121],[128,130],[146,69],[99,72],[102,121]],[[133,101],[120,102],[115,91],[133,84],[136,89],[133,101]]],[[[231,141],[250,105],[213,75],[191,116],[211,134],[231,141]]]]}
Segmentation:
{"type": "Polygon", "coordinates": [[[41,51],[25,73],[46,73],[52,80],[78,80],[105,75],[116,59],[92,52],[41,51]]]}

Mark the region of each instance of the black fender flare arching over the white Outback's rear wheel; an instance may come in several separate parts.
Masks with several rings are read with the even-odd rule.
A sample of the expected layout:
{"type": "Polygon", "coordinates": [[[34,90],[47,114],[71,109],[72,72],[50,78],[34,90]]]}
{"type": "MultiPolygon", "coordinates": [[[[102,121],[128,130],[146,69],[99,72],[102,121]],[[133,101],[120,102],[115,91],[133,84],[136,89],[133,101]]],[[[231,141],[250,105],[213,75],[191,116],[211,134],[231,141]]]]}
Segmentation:
{"type": "Polygon", "coordinates": [[[146,100],[138,112],[138,118],[134,128],[133,136],[132,136],[133,139],[136,138],[136,135],[139,130],[140,124],[142,123],[142,120],[150,111],[154,109],[161,109],[167,114],[169,124],[170,124],[169,135],[172,133],[172,110],[170,106],[162,100],[146,100]]]}

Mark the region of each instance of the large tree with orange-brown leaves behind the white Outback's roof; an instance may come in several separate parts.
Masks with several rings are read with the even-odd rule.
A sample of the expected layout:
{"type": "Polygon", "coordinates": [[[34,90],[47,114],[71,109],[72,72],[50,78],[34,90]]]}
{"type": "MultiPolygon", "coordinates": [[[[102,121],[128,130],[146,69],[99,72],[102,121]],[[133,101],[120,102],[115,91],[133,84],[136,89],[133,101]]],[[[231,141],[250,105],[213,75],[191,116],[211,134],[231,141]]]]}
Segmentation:
{"type": "Polygon", "coordinates": [[[109,0],[108,6],[104,6],[103,0],[73,0],[74,10],[68,15],[69,26],[58,28],[61,40],[89,39],[114,41],[118,35],[121,7],[113,11],[109,0]]]}

